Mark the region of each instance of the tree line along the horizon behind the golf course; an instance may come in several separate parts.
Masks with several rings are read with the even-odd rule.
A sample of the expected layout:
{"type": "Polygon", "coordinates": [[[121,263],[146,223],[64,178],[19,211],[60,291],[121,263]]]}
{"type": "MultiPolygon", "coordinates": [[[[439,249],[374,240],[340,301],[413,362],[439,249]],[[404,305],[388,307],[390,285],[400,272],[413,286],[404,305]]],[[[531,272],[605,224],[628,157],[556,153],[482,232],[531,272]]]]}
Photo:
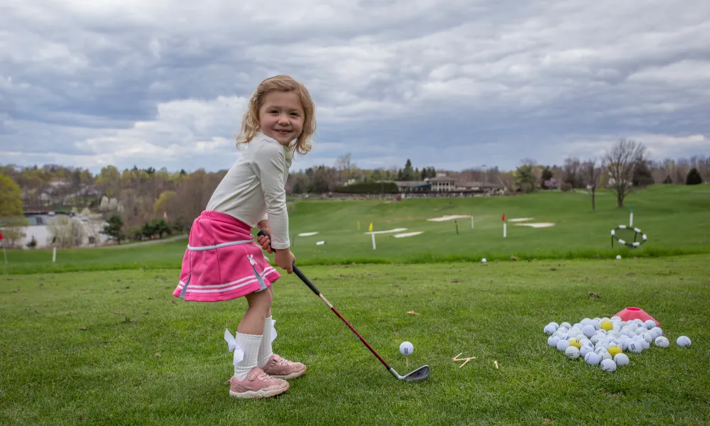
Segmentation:
{"type": "MultiPolygon", "coordinates": [[[[611,187],[617,194],[618,205],[622,206],[628,192],[652,183],[707,182],[710,157],[651,160],[643,144],[622,139],[599,158],[569,157],[561,165],[541,165],[525,158],[515,170],[501,171],[495,166],[481,165],[461,171],[438,171],[459,181],[495,183],[508,192],[587,190],[594,208],[594,193],[601,187],[611,187]]],[[[225,174],[226,170],[199,169],[188,173],[135,166],[119,170],[113,165],[107,165],[99,173],[56,164],[0,165],[0,218],[4,218],[0,221],[7,228],[11,221],[21,221],[18,217],[23,212],[88,209],[107,222],[114,218],[109,222],[109,231],[117,240],[187,231],[225,174]]],[[[324,194],[355,182],[425,180],[436,175],[434,167],[415,166],[410,159],[405,160],[402,168],[363,169],[346,153],[332,166],[318,165],[290,173],[287,193],[324,194]]],[[[381,185],[369,187],[382,191],[381,185]]]]}

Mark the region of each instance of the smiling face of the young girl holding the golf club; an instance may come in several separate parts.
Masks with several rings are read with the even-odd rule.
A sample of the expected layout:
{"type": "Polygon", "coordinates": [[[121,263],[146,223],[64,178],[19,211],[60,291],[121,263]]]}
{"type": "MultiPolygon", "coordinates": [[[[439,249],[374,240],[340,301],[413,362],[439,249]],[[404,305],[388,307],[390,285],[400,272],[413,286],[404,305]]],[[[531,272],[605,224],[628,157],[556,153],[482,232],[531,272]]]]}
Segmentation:
{"type": "Polygon", "coordinates": [[[283,146],[300,136],[305,114],[297,94],[272,90],[259,109],[261,131],[283,146]]]}

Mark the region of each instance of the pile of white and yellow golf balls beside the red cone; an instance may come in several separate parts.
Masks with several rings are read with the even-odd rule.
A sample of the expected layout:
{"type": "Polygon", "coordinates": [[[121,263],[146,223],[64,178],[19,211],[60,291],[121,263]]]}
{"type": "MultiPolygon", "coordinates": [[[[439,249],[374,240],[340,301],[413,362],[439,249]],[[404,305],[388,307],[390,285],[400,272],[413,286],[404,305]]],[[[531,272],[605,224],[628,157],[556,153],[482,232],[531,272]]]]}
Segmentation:
{"type": "MultiPolygon", "coordinates": [[[[550,322],[543,329],[547,344],[564,352],[567,358],[584,359],[586,364],[600,366],[603,371],[616,371],[617,367],[629,364],[625,352],[640,354],[650,349],[651,344],[667,348],[670,341],[655,321],[630,320],[620,317],[584,318],[576,324],[550,322]]],[[[678,337],[680,347],[690,346],[687,336],[678,337]]]]}

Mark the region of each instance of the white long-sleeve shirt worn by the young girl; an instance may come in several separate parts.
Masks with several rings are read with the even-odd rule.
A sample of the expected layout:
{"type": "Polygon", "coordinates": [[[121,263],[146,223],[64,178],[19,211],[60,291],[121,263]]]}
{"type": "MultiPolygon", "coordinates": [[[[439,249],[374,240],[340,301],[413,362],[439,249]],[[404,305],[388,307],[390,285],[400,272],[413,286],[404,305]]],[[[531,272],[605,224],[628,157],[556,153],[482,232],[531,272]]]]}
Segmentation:
{"type": "Polygon", "coordinates": [[[268,219],[271,247],[288,249],[286,179],[292,151],[263,133],[247,144],[207,202],[207,210],[229,214],[256,227],[268,219]]]}

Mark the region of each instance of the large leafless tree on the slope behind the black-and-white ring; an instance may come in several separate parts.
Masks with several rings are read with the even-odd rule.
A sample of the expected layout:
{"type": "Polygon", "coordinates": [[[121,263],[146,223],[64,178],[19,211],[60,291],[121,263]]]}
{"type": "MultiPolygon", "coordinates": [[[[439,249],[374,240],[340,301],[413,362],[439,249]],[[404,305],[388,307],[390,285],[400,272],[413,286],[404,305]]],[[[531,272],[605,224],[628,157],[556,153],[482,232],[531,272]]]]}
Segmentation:
{"type": "Polygon", "coordinates": [[[633,170],[644,160],[645,152],[641,143],[621,139],[604,153],[603,161],[608,164],[608,186],[616,192],[618,207],[623,207],[623,199],[633,191],[633,170]]]}

